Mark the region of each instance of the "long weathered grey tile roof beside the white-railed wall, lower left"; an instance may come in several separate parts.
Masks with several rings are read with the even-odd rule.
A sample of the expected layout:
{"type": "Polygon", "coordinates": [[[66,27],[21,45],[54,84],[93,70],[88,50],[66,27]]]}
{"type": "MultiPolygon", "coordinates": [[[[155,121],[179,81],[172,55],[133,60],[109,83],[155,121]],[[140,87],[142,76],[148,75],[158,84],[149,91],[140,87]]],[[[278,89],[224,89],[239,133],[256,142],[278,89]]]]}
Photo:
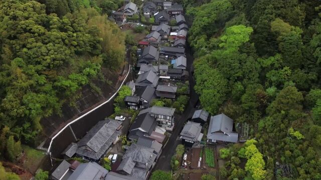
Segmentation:
{"type": "Polygon", "coordinates": [[[121,131],[116,130],[121,121],[107,119],[99,121],[79,140],[76,153],[81,156],[99,160],[121,131]]]}

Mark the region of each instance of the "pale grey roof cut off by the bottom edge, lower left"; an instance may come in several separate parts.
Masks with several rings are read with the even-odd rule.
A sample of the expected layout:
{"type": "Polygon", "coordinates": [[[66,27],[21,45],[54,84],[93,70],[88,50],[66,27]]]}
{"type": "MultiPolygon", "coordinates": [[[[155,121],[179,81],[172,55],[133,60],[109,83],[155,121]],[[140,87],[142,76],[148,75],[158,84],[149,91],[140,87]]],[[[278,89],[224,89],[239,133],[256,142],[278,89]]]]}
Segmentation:
{"type": "Polygon", "coordinates": [[[100,180],[104,179],[108,170],[96,162],[87,162],[80,164],[71,174],[68,180],[100,180]]]}

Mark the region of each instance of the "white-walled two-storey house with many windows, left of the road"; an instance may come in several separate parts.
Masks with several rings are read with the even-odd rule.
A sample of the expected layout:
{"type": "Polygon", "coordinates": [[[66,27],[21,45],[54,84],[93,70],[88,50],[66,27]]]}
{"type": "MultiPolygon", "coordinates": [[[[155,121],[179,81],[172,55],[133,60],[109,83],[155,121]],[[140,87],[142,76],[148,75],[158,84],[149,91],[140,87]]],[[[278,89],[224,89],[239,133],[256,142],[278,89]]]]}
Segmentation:
{"type": "Polygon", "coordinates": [[[154,120],[157,121],[157,124],[162,127],[172,127],[174,125],[174,116],[175,108],[170,107],[161,107],[161,106],[152,106],[143,110],[140,110],[139,114],[148,113],[154,120]]]}

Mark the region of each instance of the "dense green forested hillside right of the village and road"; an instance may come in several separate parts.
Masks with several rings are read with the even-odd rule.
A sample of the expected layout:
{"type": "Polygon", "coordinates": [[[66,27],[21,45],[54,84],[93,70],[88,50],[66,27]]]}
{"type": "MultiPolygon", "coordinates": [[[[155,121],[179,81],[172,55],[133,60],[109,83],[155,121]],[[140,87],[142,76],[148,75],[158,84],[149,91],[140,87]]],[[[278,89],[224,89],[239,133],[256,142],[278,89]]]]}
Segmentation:
{"type": "Polygon", "coordinates": [[[239,151],[245,167],[234,154],[221,175],[321,179],[321,1],[182,2],[194,19],[189,42],[202,106],[247,122],[257,141],[239,151]],[[276,162],[293,176],[282,177],[276,162]]]}

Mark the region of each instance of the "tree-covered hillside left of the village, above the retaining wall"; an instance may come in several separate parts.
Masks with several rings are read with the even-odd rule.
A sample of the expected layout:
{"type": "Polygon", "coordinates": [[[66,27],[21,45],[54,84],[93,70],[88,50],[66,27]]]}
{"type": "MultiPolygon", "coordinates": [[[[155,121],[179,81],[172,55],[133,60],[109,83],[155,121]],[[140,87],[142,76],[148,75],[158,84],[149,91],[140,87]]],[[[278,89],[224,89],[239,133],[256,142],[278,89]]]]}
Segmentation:
{"type": "Polygon", "coordinates": [[[76,7],[40,2],[0,1],[0,156],[9,159],[6,139],[33,144],[43,117],[73,105],[85,84],[104,80],[101,68],[124,64],[125,37],[105,13],[80,3],[86,0],[76,7]]]}

